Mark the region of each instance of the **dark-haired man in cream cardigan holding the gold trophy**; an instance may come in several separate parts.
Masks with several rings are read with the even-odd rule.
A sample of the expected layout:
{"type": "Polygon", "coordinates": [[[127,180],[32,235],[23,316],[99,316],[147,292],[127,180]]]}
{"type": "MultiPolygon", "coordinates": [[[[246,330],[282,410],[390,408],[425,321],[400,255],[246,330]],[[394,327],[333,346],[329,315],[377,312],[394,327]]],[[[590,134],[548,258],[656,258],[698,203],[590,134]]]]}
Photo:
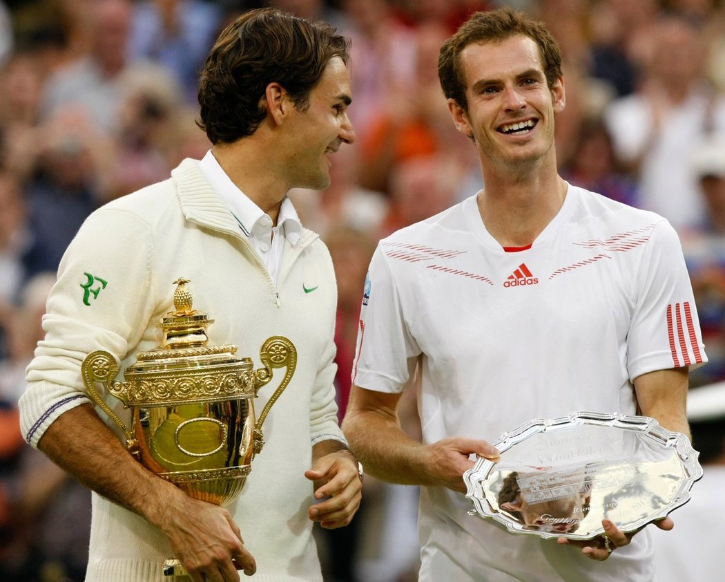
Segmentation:
{"type": "Polygon", "coordinates": [[[274,9],[239,17],[201,74],[210,152],[97,210],[65,253],[21,423],[30,444],[94,491],[88,581],[161,581],[173,556],[194,581],[236,581],[244,570],[263,582],[321,582],[312,522],[337,528],[357,511],[361,467],[336,422],[334,271],[286,197],[327,187],[330,155],[355,139],[346,61],[347,41],[328,25],[274,9]],[[123,371],[158,345],[180,276],[216,321],[213,343],[249,356],[270,335],[297,346],[264,451],[227,509],[136,462],[81,381],[91,351],[112,353],[123,371]]]}

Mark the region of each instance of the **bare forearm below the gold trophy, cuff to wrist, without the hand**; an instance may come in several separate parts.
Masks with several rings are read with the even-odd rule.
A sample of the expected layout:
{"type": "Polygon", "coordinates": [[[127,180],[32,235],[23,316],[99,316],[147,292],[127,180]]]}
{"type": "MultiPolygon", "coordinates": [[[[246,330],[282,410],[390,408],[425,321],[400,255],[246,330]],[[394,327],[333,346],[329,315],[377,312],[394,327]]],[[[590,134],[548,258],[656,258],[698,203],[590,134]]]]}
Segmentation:
{"type": "Polygon", "coordinates": [[[159,527],[165,508],[186,501],[183,491],[133,459],[91,406],[58,417],[38,448],[86,487],[159,527]]]}

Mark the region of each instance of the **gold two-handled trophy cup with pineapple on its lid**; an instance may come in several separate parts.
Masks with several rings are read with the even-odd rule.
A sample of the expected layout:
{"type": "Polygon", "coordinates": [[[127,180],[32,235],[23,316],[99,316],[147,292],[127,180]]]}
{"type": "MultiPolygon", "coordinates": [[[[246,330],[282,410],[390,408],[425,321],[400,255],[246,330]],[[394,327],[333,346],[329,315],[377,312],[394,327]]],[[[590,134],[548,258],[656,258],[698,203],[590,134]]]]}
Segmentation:
{"type": "MultiPolygon", "coordinates": [[[[297,350],[286,337],[262,344],[255,370],[251,358],[237,358],[236,345],[207,345],[207,327],[214,323],[192,310],[188,279],[177,279],[174,308],[159,323],[162,344],[138,353],[117,382],[118,364],[106,351],[83,360],[88,395],[123,431],[126,446],[150,471],[186,491],[194,499],[227,505],[236,498],[262,450],[262,423],[289,385],[297,366],[297,350]],[[259,418],[254,398],[270,382],[273,369],[286,368],[277,390],[259,418]],[[131,426],[101,398],[95,383],[132,411],[131,426]]],[[[164,575],[189,579],[181,562],[167,560],[164,575]]]]}

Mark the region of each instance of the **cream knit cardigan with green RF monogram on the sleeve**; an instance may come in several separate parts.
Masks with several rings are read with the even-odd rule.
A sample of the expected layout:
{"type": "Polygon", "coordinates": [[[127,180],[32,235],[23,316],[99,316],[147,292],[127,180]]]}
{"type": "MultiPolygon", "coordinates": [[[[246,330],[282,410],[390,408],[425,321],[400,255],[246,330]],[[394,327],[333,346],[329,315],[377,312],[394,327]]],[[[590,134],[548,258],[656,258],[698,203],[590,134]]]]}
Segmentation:
{"type": "MultiPolygon", "coordinates": [[[[275,285],[196,160],[96,210],[81,227],[60,264],[43,319],[46,338],[28,368],[22,432],[36,446],[59,415],[89,401],[80,364],[91,351],[115,354],[120,378],[138,352],[155,348],[156,324],[173,309],[173,282],[180,276],[191,280],[194,308],[215,320],[211,343],[237,345],[238,355],[251,357],[255,367],[270,336],[288,337],[297,348],[297,371],[263,427],[265,447],[229,509],[257,560],[254,580],[321,581],[307,517],[312,483],[304,472],[314,443],[344,442],[333,385],[331,258],[305,230],[296,244],[286,242],[275,285]]],[[[283,370],[277,372],[281,377],[283,370]]],[[[279,377],[260,390],[257,411],[279,377]]],[[[120,401],[106,399],[128,422],[120,401]]],[[[161,582],[160,565],[168,557],[157,528],[94,493],[88,581],[161,582]]]]}

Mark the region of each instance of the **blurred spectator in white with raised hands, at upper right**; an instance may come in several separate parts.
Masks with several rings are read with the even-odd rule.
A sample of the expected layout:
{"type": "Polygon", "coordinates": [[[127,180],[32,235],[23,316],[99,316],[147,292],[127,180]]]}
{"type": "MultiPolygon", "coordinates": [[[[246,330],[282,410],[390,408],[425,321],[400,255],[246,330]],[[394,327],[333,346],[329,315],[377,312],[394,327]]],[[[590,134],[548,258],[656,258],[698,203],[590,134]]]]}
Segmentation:
{"type": "Polygon", "coordinates": [[[725,134],[725,99],[703,73],[702,29],[663,15],[647,31],[639,89],[612,102],[605,122],[615,151],[639,180],[641,206],[684,234],[705,221],[705,203],[689,166],[689,150],[708,134],[725,134]]]}

